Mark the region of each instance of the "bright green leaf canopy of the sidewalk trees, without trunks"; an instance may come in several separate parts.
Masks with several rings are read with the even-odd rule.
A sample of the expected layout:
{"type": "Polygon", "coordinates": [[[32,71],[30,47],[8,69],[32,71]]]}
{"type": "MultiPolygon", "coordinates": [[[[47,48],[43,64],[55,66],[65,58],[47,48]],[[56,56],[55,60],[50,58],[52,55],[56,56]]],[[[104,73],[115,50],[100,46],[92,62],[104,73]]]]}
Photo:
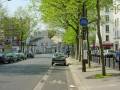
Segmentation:
{"type": "MultiPolygon", "coordinates": [[[[112,3],[112,0],[100,1],[101,8],[112,3]]],[[[64,42],[73,43],[75,41],[72,40],[75,40],[73,38],[76,38],[79,30],[79,20],[82,17],[82,5],[82,0],[41,0],[40,12],[42,20],[50,26],[60,27],[66,30],[64,42]]],[[[86,0],[86,8],[89,22],[97,20],[96,0],[86,0]]],[[[93,26],[92,23],[89,26],[93,26]]]]}

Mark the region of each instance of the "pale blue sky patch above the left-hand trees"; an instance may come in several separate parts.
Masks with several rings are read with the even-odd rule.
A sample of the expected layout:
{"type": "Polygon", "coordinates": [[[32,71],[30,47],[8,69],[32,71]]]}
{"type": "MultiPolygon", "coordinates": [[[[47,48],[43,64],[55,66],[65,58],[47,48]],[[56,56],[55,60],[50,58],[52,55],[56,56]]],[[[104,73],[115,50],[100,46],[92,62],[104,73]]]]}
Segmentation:
{"type": "Polygon", "coordinates": [[[25,7],[29,4],[29,0],[0,0],[5,8],[7,8],[8,13],[13,15],[16,9],[20,6],[25,7]]]}

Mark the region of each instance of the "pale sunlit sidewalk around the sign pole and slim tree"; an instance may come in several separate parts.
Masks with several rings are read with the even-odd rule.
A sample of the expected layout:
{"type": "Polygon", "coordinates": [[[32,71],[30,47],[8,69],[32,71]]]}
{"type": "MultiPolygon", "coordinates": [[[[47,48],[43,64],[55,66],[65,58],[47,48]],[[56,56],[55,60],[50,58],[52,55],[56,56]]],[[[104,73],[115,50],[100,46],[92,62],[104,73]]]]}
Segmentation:
{"type": "Polygon", "coordinates": [[[112,76],[107,78],[96,79],[95,74],[101,74],[101,66],[92,63],[90,69],[82,72],[81,63],[75,59],[68,58],[69,67],[73,75],[73,79],[79,90],[120,90],[120,71],[106,68],[107,73],[112,76]]]}

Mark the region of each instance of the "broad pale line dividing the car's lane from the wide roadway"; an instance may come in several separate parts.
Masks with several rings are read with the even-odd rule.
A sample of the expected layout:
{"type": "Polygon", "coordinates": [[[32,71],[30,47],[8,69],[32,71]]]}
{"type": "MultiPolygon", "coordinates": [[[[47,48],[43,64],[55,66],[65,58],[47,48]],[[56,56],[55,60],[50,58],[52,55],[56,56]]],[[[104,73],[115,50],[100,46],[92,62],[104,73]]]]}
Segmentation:
{"type": "Polygon", "coordinates": [[[45,82],[47,81],[49,75],[52,73],[52,70],[53,70],[53,67],[50,67],[47,74],[45,74],[43,76],[43,78],[38,82],[38,84],[35,86],[35,88],[33,90],[41,90],[42,89],[42,87],[44,86],[45,82]]]}

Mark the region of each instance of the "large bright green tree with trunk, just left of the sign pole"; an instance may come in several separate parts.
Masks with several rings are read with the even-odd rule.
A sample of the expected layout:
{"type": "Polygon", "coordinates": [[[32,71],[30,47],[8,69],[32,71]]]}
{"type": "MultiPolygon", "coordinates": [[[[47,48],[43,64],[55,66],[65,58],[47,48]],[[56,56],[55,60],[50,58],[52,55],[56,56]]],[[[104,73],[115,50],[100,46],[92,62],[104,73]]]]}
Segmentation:
{"type": "MultiPolygon", "coordinates": [[[[79,50],[79,19],[80,19],[80,5],[79,0],[42,0],[40,5],[40,11],[42,12],[42,20],[53,26],[61,27],[67,30],[71,27],[76,33],[76,45],[77,45],[77,59],[79,50]]],[[[68,37],[69,38],[69,37],[68,37]]]]}

